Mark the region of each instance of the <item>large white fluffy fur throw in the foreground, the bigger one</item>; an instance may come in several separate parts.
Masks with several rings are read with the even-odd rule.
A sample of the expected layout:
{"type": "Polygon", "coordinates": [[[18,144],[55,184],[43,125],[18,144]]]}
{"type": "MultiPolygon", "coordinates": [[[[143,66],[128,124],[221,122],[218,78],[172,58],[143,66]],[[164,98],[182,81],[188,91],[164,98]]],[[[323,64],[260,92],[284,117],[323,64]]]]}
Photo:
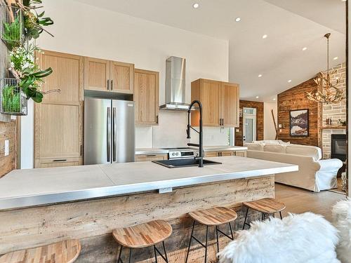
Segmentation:
{"type": "Polygon", "coordinates": [[[340,263],[338,234],[322,215],[290,214],[254,222],[219,252],[220,263],[340,263]]]}

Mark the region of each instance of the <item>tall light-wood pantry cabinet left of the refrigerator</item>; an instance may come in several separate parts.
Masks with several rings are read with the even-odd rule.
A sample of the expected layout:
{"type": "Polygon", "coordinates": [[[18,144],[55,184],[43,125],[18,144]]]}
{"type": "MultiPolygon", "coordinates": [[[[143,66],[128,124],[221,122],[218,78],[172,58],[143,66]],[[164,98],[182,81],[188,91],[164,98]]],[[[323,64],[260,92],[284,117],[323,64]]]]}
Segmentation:
{"type": "Polygon", "coordinates": [[[53,51],[37,53],[39,67],[51,67],[42,90],[48,93],[34,113],[34,167],[77,166],[83,154],[84,60],[53,51]]]}

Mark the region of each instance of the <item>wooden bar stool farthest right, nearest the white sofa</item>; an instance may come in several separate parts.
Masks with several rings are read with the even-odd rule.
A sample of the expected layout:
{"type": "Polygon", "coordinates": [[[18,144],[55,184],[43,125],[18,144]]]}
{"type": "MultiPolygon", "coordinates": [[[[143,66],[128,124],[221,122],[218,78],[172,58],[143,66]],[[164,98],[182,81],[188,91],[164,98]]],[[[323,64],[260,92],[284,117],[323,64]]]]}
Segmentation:
{"type": "Polygon", "coordinates": [[[275,213],[279,213],[280,219],[283,219],[282,210],[286,208],[284,203],[280,203],[276,201],[274,198],[263,198],[256,201],[244,202],[242,204],[247,208],[244,225],[242,227],[243,230],[245,229],[246,224],[250,227],[250,224],[246,223],[247,214],[249,213],[250,208],[262,213],[262,220],[265,220],[267,215],[275,216],[275,213]]]}

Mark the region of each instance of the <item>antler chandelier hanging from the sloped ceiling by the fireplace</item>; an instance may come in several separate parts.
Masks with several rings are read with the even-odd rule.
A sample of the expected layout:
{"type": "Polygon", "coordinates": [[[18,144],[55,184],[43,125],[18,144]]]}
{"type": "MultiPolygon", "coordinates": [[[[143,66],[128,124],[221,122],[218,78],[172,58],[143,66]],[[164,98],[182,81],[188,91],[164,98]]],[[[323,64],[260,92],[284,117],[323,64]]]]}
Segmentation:
{"type": "Polygon", "coordinates": [[[314,79],[314,82],[317,84],[318,88],[316,91],[307,92],[306,97],[308,100],[313,100],[314,102],[324,102],[326,104],[329,103],[336,103],[343,100],[343,90],[336,88],[338,83],[340,82],[339,79],[336,79],[334,83],[331,81],[331,77],[329,74],[329,37],[330,33],[325,34],[324,37],[326,38],[326,47],[327,47],[327,72],[326,74],[320,73],[320,76],[314,79]]]}

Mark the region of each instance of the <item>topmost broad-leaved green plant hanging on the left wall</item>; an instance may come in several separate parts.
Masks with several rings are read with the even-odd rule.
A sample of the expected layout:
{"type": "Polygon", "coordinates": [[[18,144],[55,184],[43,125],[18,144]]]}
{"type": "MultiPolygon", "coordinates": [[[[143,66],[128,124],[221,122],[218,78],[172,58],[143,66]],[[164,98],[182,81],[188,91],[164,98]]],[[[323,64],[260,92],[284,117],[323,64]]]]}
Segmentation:
{"type": "Polygon", "coordinates": [[[23,1],[23,5],[27,7],[24,18],[25,32],[28,39],[39,38],[41,32],[44,31],[43,27],[53,25],[53,20],[51,18],[44,18],[45,11],[37,13],[36,4],[41,4],[41,0],[23,1]]]}

